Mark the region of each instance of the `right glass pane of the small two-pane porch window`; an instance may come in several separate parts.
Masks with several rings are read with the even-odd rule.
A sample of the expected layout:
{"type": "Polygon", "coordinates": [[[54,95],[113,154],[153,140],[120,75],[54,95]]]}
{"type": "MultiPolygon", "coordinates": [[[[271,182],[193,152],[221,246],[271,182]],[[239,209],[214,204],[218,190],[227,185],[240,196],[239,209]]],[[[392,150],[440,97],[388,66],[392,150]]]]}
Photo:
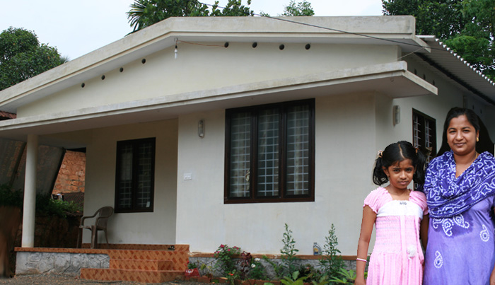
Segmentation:
{"type": "Polygon", "coordinates": [[[146,142],[138,148],[138,187],[136,192],[136,207],[151,207],[151,187],[153,178],[153,144],[146,142]]]}

